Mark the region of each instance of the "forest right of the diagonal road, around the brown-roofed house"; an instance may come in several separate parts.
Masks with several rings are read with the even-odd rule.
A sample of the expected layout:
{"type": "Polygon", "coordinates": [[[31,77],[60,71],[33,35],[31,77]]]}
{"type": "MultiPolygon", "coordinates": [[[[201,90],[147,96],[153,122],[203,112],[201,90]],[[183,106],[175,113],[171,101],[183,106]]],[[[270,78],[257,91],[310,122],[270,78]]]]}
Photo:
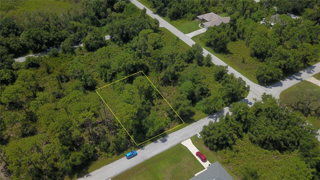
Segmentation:
{"type": "Polygon", "coordinates": [[[230,16],[228,24],[209,27],[200,40],[214,52],[234,57],[259,83],[276,82],[319,61],[319,1],[151,2],[157,13],[170,20],[194,20],[207,12],[230,16]],[[260,24],[262,18],[267,22],[275,14],[280,16],[273,27],[260,24]]]}

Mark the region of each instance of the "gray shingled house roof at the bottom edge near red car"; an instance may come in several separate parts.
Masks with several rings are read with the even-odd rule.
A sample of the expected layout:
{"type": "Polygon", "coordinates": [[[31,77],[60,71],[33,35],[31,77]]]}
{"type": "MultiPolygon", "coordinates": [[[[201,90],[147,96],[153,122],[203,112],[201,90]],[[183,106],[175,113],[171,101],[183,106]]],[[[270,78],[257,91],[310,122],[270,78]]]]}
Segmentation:
{"type": "Polygon", "coordinates": [[[233,180],[233,178],[217,161],[190,180],[233,180]]]}

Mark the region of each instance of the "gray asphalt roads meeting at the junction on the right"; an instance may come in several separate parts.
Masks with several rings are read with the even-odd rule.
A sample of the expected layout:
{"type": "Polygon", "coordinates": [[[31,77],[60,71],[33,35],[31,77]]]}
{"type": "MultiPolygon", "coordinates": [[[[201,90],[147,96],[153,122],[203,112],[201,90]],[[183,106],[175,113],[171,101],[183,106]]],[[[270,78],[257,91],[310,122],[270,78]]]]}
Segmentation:
{"type": "MultiPolygon", "coordinates": [[[[153,14],[152,11],[150,11],[147,7],[142,5],[140,2],[135,1],[135,0],[131,1],[131,2],[140,9],[146,8],[147,14],[150,17],[156,18],[157,20],[159,20],[161,27],[165,27],[166,29],[170,30],[174,35],[178,36],[182,41],[187,43],[189,46],[195,44],[195,42],[191,38],[189,38],[188,36],[183,34],[181,31],[179,31],[178,29],[173,27],[171,24],[169,24],[167,21],[163,20],[158,15],[153,14]]],[[[207,50],[204,49],[203,55],[206,56],[207,54],[211,54],[211,53],[209,53],[207,50]]],[[[227,65],[225,62],[220,60],[215,55],[211,54],[211,56],[212,56],[212,62],[214,64],[224,65],[224,66],[227,65]]],[[[249,95],[247,96],[247,98],[245,98],[242,101],[246,102],[248,105],[252,105],[254,103],[252,98],[257,98],[259,100],[260,96],[264,92],[267,94],[272,94],[274,97],[279,98],[280,93],[284,89],[287,89],[290,86],[293,86],[293,85],[297,84],[298,82],[303,81],[303,80],[313,76],[314,74],[320,72],[320,63],[317,63],[314,66],[311,66],[303,71],[300,71],[300,72],[298,72],[298,73],[296,73],[296,74],[294,74],[294,75],[292,75],[292,76],[290,76],[280,82],[277,82],[276,84],[271,85],[271,86],[257,85],[255,83],[253,83],[252,81],[250,81],[248,78],[244,77],[242,74],[240,74],[236,70],[234,70],[233,68],[228,67],[228,70],[229,70],[229,73],[234,73],[236,77],[241,77],[242,79],[244,79],[244,81],[248,85],[250,85],[249,95]]],[[[219,117],[222,114],[226,114],[229,111],[228,109],[229,108],[226,107],[222,111],[220,111],[219,113],[215,113],[207,118],[201,119],[201,120],[199,120],[199,121],[197,121],[187,127],[180,129],[179,131],[173,132],[170,135],[167,135],[166,137],[145,146],[144,148],[142,148],[140,150],[137,150],[138,156],[136,156],[130,160],[122,158],[122,159],[117,160],[113,163],[110,163],[100,169],[97,169],[97,170],[95,170],[95,171],[93,171],[93,172],[91,172],[91,173],[89,173],[79,179],[81,179],[81,180],[83,180],[83,179],[85,179],[85,180],[89,180],[89,179],[90,180],[108,180],[111,177],[114,177],[114,176],[124,172],[125,170],[127,170],[135,165],[138,165],[141,162],[171,148],[172,146],[174,146],[178,143],[181,143],[182,141],[185,141],[186,139],[192,137],[196,133],[199,133],[202,130],[202,127],[204,125],[207,125],[210,120],[219,121],[219,117]]]]}

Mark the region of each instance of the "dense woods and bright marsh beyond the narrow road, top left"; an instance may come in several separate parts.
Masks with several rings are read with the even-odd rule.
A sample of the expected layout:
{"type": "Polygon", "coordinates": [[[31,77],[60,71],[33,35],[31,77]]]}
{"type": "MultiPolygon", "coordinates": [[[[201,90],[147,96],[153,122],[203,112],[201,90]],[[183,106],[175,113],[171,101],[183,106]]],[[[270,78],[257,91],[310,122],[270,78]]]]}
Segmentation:
{"type": "Polygon", "coordinates": [[[82,40],[100,40],[92,45],[85,43],[87,50],[98,49],[105,43],[102,36],[105,32],[100,29],[112,14],[122,12],[125,5],[124,1],[4,1],[1,63],[10,66],[13,56],[59,47],[62,42],[71,46],[82,40]]]}

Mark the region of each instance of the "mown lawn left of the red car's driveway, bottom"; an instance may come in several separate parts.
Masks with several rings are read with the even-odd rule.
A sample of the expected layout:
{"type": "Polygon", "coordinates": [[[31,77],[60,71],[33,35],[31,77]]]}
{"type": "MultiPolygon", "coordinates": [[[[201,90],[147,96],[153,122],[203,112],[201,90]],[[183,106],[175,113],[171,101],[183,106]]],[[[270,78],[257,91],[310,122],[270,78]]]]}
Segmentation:
{"type": "MultiPolygon", "coordinates": [[[[139,155],[138,155],[139,156],[139,155]]],[[[188,180],[204,168],[182,144],[177,144],[141,164],[113,177],[112,180],[188,180]]]]}

